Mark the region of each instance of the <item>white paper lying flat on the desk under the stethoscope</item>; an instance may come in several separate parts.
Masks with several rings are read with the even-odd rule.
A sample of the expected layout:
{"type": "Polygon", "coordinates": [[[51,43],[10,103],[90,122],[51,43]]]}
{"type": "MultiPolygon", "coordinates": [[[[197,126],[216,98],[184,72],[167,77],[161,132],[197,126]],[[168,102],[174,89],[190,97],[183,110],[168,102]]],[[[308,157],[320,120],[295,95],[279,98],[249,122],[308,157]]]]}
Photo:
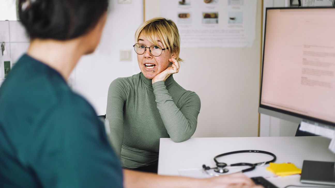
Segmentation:
{"type": "MultiPolygon", "coordinates": [[[[275,174],[269,172],[268,170],[266,170],[266,167],[268,167],[269,165],[264,165],[264,166],[258,166],[256,167],[254,170],[249,171],[249,172],[245,172],[244,174],[248,177],[257,177],[257,176],[263,176],[264,178],[270,178],[270,177],[277,177],[275,174]]],[[[239,172],[243,169],[245,169],[246,167],[229,167],[229,172],[224,173],[224,174],[231,174],[234,172],[239,172]]],[[[219,174],[214,172],[214,170],[208,170],[207,174],[206,172],[203,171],[203,169],[180,169],[178,170],[179,174],[181,176],[186,176],[186,177],[191,177],[191,178],[210,178],[213,177],[209,174],[218,174],[218,175],[223,175],[223,174],[219,174]]]]}

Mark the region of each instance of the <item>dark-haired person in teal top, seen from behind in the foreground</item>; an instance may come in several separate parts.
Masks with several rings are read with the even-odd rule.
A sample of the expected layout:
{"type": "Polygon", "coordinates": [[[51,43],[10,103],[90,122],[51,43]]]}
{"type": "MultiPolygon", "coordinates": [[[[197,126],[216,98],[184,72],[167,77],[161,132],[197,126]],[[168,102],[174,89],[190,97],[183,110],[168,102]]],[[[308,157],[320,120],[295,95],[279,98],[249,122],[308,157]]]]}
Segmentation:
{"type": "Polygon", "coordinates": [[[66,84],[99,43],[108,0],[18,5],[30,45],[0,88],[1,188],[254,186],[242,174],[194,179],[122,170],[92,106],[66,84]]]}

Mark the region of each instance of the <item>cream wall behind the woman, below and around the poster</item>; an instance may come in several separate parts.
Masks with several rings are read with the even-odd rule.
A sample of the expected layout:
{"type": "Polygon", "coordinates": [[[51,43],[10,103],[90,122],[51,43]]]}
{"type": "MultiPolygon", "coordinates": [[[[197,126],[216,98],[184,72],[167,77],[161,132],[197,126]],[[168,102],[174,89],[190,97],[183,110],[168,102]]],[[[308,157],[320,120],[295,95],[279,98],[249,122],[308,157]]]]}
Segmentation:
{"type": "MultiPolygon", "coordinates": [[[[251,48],[182,48],[175,80],[201,99],[193,137],[258,135],[262,1],[251,48]]],[[[145,1],[145,19],[160,16],[160,1],[145,1]]],[[[172,10],[173,11],[173,10],[172,10]]]]}

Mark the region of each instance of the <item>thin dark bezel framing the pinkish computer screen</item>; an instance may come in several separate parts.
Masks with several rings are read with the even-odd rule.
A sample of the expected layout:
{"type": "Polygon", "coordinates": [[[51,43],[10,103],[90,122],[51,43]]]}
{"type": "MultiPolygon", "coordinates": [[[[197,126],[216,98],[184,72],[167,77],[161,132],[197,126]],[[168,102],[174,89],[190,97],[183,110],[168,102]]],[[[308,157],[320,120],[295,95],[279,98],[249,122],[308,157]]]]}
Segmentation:
{"type": "MultiPolygon", "coordinates": [[[[278,113],[281,113],[281,114],[286,114],[286,115],[288,115],[287,116],[288,118],[285,118],[285,119],[286,120],[294,119],[293,122],[296,122],[297,120],[300,120],[300,119],[302,119],[302,120],[305,119],[305,120],[313,121],[313,122],[316,122],[316,123],[322,123],[322,124],[331,125],[331,126],[335,127],[335,122],[330,122],[330,121],[327,121],[327,120],[323,120],[323,119],[319,119],[319,118],[315,118],[315,117],[311,117],[311,116],[307,116],[307,115],[303,115],[303,114],[298,114],[298,113],[295,113],[295,112],[291,112],[291,111],[287,111],[287,110],[283,110],[283,109],[279,109],[279,108],[275,108],[275,107],[272,107],[272,106],[267,106],[267,105],[261,104],[262,86],[263,86],[264,54],[265,54],[264,51],[265,51],[265,40],[266,40],[266,22],[267,22],[268,10],[271,10],[271,9],[325,9],[325,8],[335,9],[335,7],[332,7],[332,6],[328,6],[328,7],[267,7],[266,8],[265,24],[264,24],[263,51],[262,51],[261,85],[260,85],[260,94],[259,94],[259,113],[264,112],[264,110],[261,110],[261,109],[266,109],[266,110],[271,110],[271,111],[278,112],[278,113]]],[[[266,112],[266,110],[265,110],[265,112],[266,112]]],[[[277,117],[282,117],[282,115],[278,115],[277,117]]]]}

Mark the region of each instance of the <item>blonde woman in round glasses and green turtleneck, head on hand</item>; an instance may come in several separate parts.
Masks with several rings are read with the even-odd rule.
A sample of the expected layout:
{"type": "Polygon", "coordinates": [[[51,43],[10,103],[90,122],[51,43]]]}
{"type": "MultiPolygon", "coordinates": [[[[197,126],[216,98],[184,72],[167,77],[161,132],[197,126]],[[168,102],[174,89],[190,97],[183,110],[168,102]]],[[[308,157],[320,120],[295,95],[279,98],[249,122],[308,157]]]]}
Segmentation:
{"type": "Polygon", "coordinates": [[[122,166],[157,173],[159,138],[188,140],[197,126],[200,99],[172,76],[179,72],[182,61],[180,37],[172,20],[145,21],[135,40],[141,72],[111,83],[106,120],[122,166]]]}

